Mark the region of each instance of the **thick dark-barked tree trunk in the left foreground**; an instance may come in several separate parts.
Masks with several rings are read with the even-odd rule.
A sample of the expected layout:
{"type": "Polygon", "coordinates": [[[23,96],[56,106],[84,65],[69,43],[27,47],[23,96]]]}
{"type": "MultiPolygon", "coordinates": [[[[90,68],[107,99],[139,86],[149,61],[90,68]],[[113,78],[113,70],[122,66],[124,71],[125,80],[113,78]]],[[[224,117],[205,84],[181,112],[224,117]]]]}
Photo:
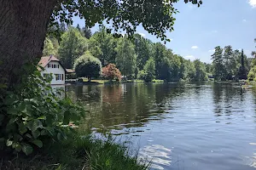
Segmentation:
{"type": "Polygon", "coordinates": [[[42,56],[57,0],[0,0],[0,83],[20,82],[14,71],[42,56]]]}

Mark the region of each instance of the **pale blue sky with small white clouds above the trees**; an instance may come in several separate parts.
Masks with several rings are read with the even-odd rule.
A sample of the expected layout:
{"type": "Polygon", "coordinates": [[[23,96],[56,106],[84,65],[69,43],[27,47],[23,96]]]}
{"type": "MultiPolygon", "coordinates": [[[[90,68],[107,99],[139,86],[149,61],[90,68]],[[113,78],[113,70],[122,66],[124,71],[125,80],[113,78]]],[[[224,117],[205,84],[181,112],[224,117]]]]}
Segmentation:
{"type": "MultiPolygon", "coordinates": [[[[172,42],[166,48],[172,48],[175,54],[185,59],[201,59],[210,63],[212,49],[231,45],[233,49],[244,49],[250,56],[255,49],[256,38],[256,0],[203,0],[200,8],[180,0],[175,4],[176,14],[174,31],[167,32],[172,42]]],[[[84,26],[84,20],[75,18],[73,26],[84,26]]],[[[91,29],[98,30],[98,26],[91,29]]],[[[148,34],[143,26],[138,26],[137,33],[160,42],[160,39],[148,34]]]]}

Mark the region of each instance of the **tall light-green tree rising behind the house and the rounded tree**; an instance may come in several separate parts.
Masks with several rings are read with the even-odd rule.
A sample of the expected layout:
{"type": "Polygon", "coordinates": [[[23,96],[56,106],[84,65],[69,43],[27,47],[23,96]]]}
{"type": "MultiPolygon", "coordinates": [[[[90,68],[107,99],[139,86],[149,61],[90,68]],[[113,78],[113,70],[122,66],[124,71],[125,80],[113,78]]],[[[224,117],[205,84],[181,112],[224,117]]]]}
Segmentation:
{"type": "Polygon", "coordinates": [[[84,54],[88,48],[88,40],[83,37],[77,28],[68,27],[61,36],[61,45],[58,51],[62,65],[73,68],[75,59],[84,54]]]}

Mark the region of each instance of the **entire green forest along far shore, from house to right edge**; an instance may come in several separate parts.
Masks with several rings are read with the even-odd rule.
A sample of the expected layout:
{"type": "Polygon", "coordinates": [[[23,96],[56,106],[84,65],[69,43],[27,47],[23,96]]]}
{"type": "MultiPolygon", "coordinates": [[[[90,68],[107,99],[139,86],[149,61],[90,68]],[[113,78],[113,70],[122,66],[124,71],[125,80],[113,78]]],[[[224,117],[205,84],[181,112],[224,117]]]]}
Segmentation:
{"type": "MultiPolygon", "coordinates": [[[[242,50],[234,50],[230,45],[216,47],[211,55],[212,63],[207,64],[200,59],[184,59],[181,55],[173,54],[172,49],[166,48],[164,44],[151,42],[139,34],[133,38],[126,35],[113,37],[103,26],[94,34],[87,27],[81,28],[79,25],[60,27],[61,38],[56,39],[50,35],[46,37],[44,55],[57,56],[70,69],[75,69],[76,61],[81,56],[100,61],[94,63],[97,67],[91,67],[94,69],[88,66],[80,66],[82,71],[76,69],[79,77],[99,78],[102,76],[99,71],[106,71],[107,65],[113,64],[119,70],[116,79],[121,74],[125,79],[141,79],[145,82],[154,79],[166,82],[207,81],[208,78],[225,81],[247,79],[253,66],[253,58],[248,58],[242,50]]],[[[252,71],[249,76],[254,78],[252,71]]]]}

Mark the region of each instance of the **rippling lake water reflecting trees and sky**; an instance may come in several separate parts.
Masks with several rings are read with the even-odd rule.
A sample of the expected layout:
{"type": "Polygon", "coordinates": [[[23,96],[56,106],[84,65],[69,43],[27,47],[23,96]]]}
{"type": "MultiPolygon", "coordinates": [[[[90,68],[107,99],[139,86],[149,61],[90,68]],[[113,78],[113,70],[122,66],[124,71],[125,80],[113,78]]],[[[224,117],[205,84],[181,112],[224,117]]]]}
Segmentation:
{"type": "Polygon", "coordinates": [[[152,169],[256,167],[256,88],[231,83],[67,86],[83,126],[131,142],[152,169]]]}

